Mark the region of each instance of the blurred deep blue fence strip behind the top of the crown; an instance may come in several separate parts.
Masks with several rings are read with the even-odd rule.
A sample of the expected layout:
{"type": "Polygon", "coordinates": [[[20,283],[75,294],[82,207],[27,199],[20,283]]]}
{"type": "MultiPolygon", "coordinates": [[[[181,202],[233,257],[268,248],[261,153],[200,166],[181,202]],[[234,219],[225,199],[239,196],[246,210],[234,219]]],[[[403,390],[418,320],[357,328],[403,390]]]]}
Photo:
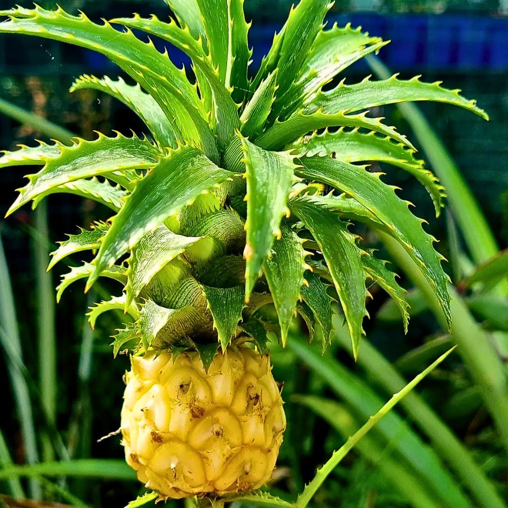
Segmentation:
{"type": "MultiPolygon", "coordinates": [[[[391,40],[380,56],[389,67],[397,70],[422,69],[447,72],[508,70],[508,19],[487,16],[441,15],[382,15],[347,14],[329,19],[339,26],[351,21],[361,25],[371,35],[391,40]]],[[[277,25],[252,26],[249,42],[254,48],[252,68],[270,48],[277,25]]],[[[162,49],[164,44],[160,44],[162,49]]],[[[84,51],[84,59],[92,70],[105,70],[111,64],[105,57],[84,51]]],[[[168,45],[171,58],[177,64],[187,60],[168,45]]]]}

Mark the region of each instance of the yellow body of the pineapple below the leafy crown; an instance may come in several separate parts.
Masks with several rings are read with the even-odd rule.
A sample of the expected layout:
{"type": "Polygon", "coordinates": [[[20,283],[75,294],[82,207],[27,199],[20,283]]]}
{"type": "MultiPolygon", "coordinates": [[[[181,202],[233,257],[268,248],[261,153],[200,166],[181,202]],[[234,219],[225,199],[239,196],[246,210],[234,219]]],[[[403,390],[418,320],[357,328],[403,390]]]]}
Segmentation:
{"type": "Polygon", "coordinates": [[[163,499],[248,492],[265,484],[285,415],[270,358],[246,346],[132,358],[121,411],[126,462],[163,499]]]}

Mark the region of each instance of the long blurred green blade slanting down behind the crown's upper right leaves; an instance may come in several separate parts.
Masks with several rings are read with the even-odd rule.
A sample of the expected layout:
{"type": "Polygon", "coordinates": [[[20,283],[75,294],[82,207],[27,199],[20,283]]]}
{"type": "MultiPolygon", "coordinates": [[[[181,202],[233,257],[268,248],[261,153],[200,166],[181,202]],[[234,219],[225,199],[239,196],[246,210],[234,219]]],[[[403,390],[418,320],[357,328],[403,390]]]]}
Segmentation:
{"type": "MultiPolygon", "coordinates": [[[[388,79],[392,75],[378,58],[368,55],[366,59],[374,74],[380,79],[388,79]]],[[[427,160],[446,188],[448,199],[474,261],[482,263],[496,255],[499,248],[487,220],[452,156],[429,121],[415,104],[397,104],[397,108],[411,126],[425,151],[427,160]]]]}

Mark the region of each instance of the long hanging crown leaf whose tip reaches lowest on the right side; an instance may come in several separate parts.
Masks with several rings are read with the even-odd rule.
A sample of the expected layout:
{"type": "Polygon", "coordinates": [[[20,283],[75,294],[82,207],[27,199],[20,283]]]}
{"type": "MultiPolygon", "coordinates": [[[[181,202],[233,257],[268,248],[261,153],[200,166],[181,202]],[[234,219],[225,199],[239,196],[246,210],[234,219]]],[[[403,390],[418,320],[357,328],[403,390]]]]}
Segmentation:
{"type": "Polygon", "coordinates": [[[335,289],[350,330],[355,358],[365,332],[363,318],[367,314],[365,273],[362,257],[366,253],[356,244],[356,237],[347,229],[337,213],[323,206],[314,196],[291,199],[290,209],[305,224],[319,244],[332,276],[335,289]]]}

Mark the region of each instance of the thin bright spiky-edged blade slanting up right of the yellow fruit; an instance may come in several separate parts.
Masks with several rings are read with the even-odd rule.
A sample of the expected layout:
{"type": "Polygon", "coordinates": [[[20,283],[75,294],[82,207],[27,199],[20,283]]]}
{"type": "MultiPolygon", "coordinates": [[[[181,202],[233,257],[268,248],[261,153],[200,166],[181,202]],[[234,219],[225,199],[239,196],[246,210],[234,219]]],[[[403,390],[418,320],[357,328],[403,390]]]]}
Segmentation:
{"type": "MultiPolygon", "coordinates": [[[[427,367],[422,373],[418,374],[411,382],[409,382],[402,390],[395,393],[392,398],[382,407],[380,408],[373,416],[371,416],[367,423],[365,423],[360,430],[358,430],[353,436],[347,439],[344,445],[334,452],[332,457],[328,460],[328,462],[321,468],[317,470],[315,477],[312,481],[305,487],[302,494],[298,496],[297,502],[295,503],[297,508],[305,508],[309,501],[312,499],[313,495],[317,492],[317,490],[321,487],[323,482],[326,480],[328,475],[333,471],[333,469],[339,464],[339,462],[356,446],[358,441],[367,434],[367,432],[372,429],[377,423],[384,418],[389,411],[400,402],[408,393],[414,389],[418,383],[430,372],[432,372],[443,360],[445,360],[450,353],[455,349],[453,347],[451,350],[441,355],[434,363],[432,363],[429,367],[427,367]]],[[[417,468],[418,469],[418,468],[417,468]]],[[[447,496],[447,501],[450,501],[449,496],[450,492],[445,491],[447,496]]],[[[442,498],[443,492],[437,491],[436,494],[442,498]]],[[[462,504],[462,503],[461,503],[462,504]]],[[[469,503],[465,503],[465,505],[469,505],[469,503]]],[[[459,506],[459,504],[452,504],[452,506],[459,506]]]]}

